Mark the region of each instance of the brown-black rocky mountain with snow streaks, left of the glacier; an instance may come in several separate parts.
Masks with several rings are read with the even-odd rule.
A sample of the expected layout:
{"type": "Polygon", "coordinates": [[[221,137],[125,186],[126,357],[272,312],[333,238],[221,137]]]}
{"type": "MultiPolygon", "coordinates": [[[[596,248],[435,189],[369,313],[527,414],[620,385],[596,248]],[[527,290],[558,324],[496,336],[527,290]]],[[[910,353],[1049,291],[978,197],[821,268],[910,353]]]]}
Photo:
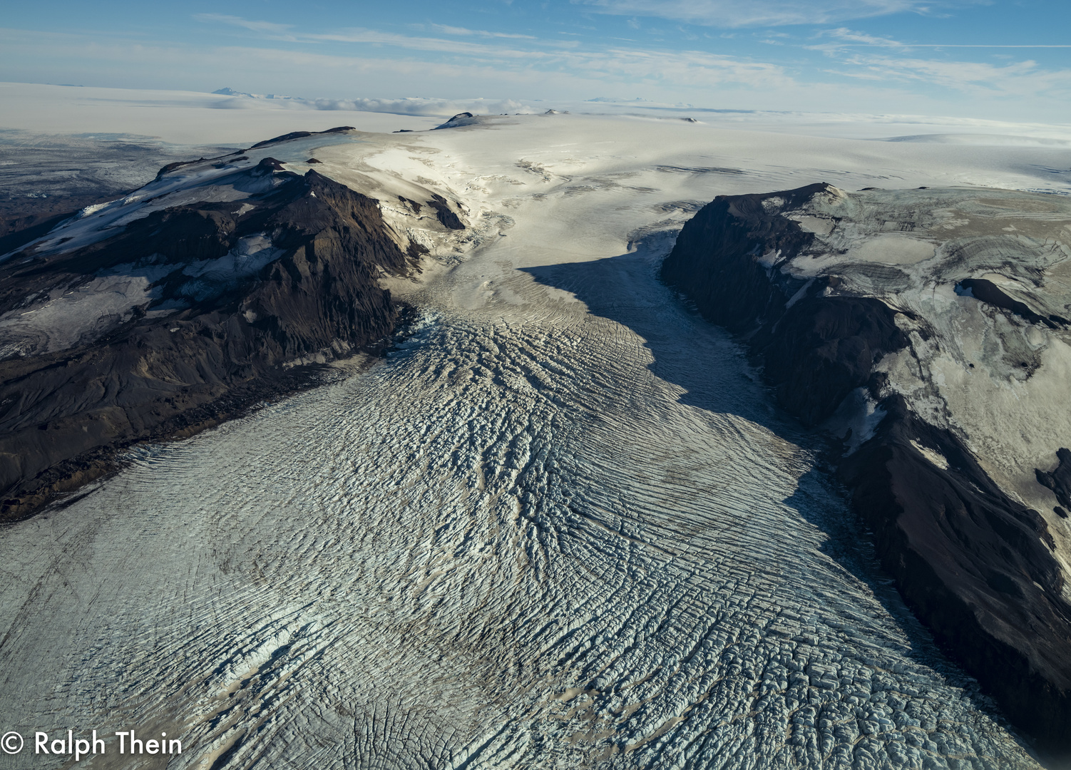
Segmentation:
{"type": "Polygon", "coordinates": [[[172,183],[175,168],[0,262],[3,517],[394,330],[377,278],[423,250],[403,251],[376,200],[271,157],[197,162],[172,183]]]}

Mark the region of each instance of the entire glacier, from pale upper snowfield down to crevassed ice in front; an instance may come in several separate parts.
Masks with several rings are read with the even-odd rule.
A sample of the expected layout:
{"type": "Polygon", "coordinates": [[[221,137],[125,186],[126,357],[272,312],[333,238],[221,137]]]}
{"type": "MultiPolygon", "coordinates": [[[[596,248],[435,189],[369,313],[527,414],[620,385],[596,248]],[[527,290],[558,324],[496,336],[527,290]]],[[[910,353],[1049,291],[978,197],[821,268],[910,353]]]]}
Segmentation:
{"type": "Polygon", "coordinates": [[[573,115],[314,139],[270,152],[472,227],[392,283],[419,318],[386,360],[3,530],[4,729],[182,739],[92,768],[1036,766],[657,269],[716,194],[1052,188],[1066,151],[573,115]]]}

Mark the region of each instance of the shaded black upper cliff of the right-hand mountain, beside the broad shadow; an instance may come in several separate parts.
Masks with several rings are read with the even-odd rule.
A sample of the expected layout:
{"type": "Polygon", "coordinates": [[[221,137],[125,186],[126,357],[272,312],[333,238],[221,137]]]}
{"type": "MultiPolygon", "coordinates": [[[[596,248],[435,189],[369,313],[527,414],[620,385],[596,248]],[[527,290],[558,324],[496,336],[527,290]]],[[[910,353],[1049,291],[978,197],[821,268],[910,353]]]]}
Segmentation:
{"type": "Polygon", "coordinates": [[[756,250],[784,256],[813,240],[791,220],[768,214],[763,201],[776,195],[791,206],[825,188],[812,184],[715,198],[684,226],[662,266],[662,280],[680,288],[707,318],[748,336],[782,404],[804,425],[832,414],[866,383],[875,361],[907,344],[895,313],[880,300],[826,297],[834,277],[809,285],[774,276],[755,259],[756,250]]]}

